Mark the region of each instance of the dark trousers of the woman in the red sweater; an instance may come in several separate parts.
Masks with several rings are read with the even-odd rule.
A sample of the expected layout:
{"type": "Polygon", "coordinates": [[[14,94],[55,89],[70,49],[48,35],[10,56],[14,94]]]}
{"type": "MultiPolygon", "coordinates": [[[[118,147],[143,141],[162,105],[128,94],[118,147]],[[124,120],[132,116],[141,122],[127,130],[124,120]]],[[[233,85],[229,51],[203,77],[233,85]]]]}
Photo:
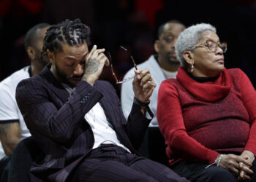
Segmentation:
{"type": "MultiPolygon", "coordinates": [[[[186,177],[190,181],[197,182],[238,182],[238,177],[230,173],[228,170],[212,165],[206,169],[206,164],[200,164],[195,162],[181,162],[178,165],[172,167],[172,169],[181,176],[186,177]]],[[[256,181],[256,160],[252,162],[254,174],[250,175],[249,181],[256,181]]]]}

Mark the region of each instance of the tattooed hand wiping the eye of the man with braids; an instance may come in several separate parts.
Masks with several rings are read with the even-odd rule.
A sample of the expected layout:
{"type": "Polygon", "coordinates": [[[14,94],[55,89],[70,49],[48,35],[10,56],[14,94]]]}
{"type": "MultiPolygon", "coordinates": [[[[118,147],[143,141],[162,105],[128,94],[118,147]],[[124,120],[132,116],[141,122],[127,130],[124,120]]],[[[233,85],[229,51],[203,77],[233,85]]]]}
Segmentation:
{"type": "Polygon", "coordinates": [[[97,50],[97,46],[92,47],[91,52],[86,57],[85,71],[83,74],[84,81],[94,85],[94,82],[99,79],[100,74],[105,66],[109,66],[109,60],[104,55],[105,49],[97,50]]]}

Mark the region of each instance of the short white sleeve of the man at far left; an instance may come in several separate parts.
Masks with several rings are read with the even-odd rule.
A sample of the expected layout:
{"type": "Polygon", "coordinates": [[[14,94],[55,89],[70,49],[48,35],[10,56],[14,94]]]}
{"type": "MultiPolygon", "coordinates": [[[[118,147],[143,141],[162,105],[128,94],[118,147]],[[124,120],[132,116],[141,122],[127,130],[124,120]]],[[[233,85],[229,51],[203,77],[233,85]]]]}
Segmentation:
{"type": "Polygon", "coordinates": [[[19,119],[18,106],[12,91],[0,85],[0,122],[19,119]]]}

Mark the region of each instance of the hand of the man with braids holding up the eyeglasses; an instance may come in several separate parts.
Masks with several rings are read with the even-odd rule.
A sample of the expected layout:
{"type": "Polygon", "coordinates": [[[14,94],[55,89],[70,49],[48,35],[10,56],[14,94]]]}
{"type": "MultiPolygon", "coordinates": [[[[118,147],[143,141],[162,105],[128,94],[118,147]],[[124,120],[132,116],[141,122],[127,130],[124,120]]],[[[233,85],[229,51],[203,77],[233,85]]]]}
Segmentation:
{"type": "Polygon", "coordinates": [[[151,77],[148,69],[135,70],[135,79],[132,82],[135,98],[141,103],[146,103],[157,84],[151,77]]]}

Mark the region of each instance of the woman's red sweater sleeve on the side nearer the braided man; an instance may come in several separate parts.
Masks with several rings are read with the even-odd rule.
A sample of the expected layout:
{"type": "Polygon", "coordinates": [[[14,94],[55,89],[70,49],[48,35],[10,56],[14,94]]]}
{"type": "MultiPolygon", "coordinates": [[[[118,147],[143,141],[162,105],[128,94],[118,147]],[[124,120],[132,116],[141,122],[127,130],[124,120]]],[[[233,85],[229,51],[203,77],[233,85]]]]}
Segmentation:
{"type": "Polygon", "coordinates": [[[158,92],[157,121],[167,146],[175,156],[211,164],[219,153],[189,137],[184,126],[181,103],[175,83],[162,82],[158,92]]]}

